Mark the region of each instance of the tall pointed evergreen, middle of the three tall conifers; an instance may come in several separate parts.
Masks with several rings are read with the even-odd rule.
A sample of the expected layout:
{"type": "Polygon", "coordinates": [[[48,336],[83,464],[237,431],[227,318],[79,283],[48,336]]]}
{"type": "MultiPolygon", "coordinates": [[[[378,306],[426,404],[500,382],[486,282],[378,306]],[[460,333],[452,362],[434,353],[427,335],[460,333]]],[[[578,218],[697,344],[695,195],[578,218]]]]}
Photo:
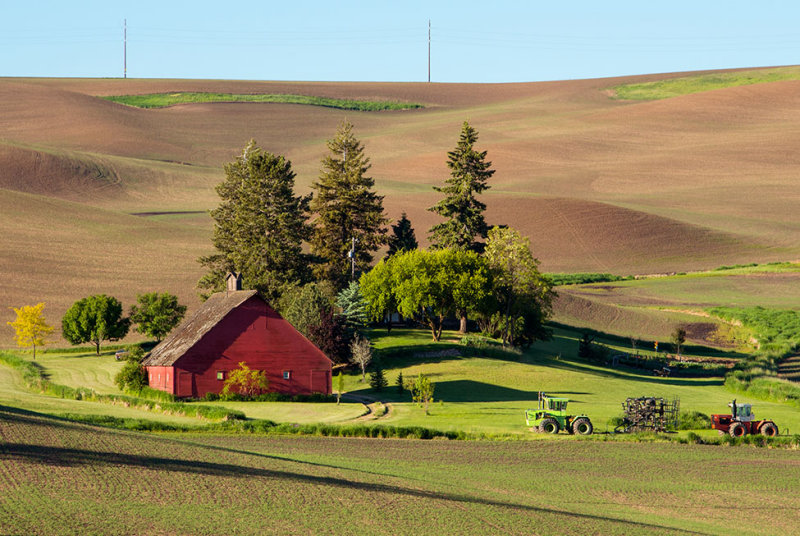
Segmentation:
{"type": "Polygon", "coordinates": [[[372,254],[386,243],[384,225],[389,220],[383,214],[383,196],[372,190],[375,181],[366,176],[371,165],[353,125],[342,123],[328,149],[319,180],[312,185],[311,210],[318,217],[311,249],[321,261],[317,277],[342,289],[351,279],[350,255],[358,272],[366,269],[372,254]]]}

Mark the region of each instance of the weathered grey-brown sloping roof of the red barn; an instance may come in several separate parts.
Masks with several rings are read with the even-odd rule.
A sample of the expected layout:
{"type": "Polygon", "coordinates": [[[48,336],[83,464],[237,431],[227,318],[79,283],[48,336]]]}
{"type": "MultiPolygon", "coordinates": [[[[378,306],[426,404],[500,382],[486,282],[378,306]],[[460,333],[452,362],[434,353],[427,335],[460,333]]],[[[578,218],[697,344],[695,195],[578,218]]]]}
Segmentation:
{"type": "Polygon", "coordinates": [[[212,294],[189,320],[185,320],[142,361],[146,367],[169,367],[232,310],[255,296],[255,290],[212,294]]]}

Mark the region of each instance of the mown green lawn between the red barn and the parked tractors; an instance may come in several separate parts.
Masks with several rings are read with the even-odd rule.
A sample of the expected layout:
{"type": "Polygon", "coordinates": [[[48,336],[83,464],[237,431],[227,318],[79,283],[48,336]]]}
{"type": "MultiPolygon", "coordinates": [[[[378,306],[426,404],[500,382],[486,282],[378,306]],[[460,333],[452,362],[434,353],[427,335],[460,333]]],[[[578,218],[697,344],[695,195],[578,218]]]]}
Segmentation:
{"type": "MultiPolygon", "coordinates": [[[[452,341],[454,334],[449,335],[452,341]]],[[[390,385],[399,372],[406,378],[423,373],[436,384],[434,398],[441,400],[430,407],[430,415],[425,415],[407,393],[398,397],[390,387],[383,396],[395,402],[395,412],[382,421],[442,430],[527,434],[524,411],[535,406],[537,393],[542,390],[570,398],[571,412],[589,415],[595,430],[602,432],[613,429],[607,426],[608,421],[621,414],[621,404],[627,397],[678,397],[682,409],[706,414],[726,412],[728,402],[737,397],[723,387],[722,378],[658,378],[645,371],[588,364],[576,358],[578,338],[578,332],[557,329],[552,341],[535,344],[519,358],[431,359],[413,357],[415,344],[424,342],[422,331],[393,330],[392,335],[373,332],[378,348],[392,350],[393,357],[383,360],[390,385]],[[407,353],[398,352],[397,347],[404,346],[407,353]]],[[[452,342],[439,345],[453,346],[452,342]]],[[[431,347],[436,345],[423,346],[425,351],[431,347]]],[[[347,384],[349,390],[371,392],[353,379],[347,384]]],[[[738,400],[753,403],[756,415],[769,416],[781,430],[800,430],[800,413],[794,408],[741,396],[738,400]]],[[[712,430],[702,433],[716,434],[712,430]]]]}

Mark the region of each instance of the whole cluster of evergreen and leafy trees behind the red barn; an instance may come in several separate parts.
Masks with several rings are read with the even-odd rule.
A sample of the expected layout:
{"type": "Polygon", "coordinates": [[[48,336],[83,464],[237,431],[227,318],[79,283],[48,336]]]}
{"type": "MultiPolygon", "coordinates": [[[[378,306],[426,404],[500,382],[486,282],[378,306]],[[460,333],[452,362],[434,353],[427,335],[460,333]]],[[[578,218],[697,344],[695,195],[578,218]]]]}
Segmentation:
{"type": "Polygon", "coordinates": [[[447,153],[450,176],[434,190],[441,201],[428,210],[443,221],[429,230],[429,250],[419,250],[407,215],[391,226],[383,196],[374,191],[364,146],[343,122],[328,140],[311,193],[295,193],[291,162],[250,141],[225,165],[217,186],[214,253],[198,287],[222,290],[225,274],[240,272],[298,330],[329,354],[347,360],[353,334],[368,321],[400,313],[441,336],[445,318],[474,316],[481,329],[508,344],[546,336],[552,287],[539,273],[530,244],[510,228],[490,230],[478,196],[494,174],[477,131],[464,122],[447,153]],[[307,250],[304,249],[307,245],[307,250]],[[376,252],[385,259],[372,267],[376,252]]]}

